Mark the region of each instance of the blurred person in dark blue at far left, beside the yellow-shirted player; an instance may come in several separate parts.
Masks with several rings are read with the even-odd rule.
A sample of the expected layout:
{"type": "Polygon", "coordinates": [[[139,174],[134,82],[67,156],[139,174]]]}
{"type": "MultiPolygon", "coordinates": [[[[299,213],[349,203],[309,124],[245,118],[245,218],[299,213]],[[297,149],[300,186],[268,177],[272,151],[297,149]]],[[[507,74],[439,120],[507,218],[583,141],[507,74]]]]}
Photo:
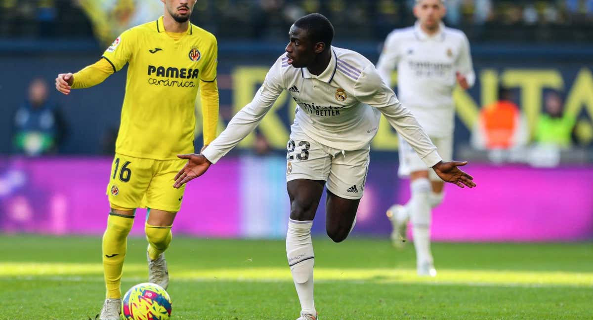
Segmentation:
{"type": "Polygon", "coordinates": [[[15,153],[39,156],[57,153],[66,136],[66,123],[56,103],[48,100],[47,83],[35,78],[28,99],[14,116],[15,153]]]}

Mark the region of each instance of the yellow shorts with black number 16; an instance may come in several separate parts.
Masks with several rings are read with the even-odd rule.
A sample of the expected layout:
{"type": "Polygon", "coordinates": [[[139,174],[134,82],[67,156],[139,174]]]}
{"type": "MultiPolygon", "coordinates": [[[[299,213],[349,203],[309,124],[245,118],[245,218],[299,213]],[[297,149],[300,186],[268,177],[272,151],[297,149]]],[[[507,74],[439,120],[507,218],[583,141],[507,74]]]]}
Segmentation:
{"type": "Polygon", "coordinates": [[[184,159],[154,160],[116,153],[107,185],[109,203],[116,209],[178,212],[185,185],[173,188],[173,178],[185,164],[184,159]]]}

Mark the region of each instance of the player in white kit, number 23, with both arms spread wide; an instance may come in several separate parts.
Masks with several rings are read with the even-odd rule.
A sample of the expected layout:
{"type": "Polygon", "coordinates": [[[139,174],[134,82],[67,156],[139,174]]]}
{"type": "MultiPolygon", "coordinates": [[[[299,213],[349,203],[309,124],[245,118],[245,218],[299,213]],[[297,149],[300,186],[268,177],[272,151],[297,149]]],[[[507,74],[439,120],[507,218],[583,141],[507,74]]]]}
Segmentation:
{"type": "Polygon", "coordinates": [[[457,167],[467,162],[442,162],[436,147],[384,84],[375,66],[356,52],[331,46],[333,27],[326,17],[299,18],[289,31],[286,53],[270,68],[251,103],[200,155],[188,159],[175,177],[175,187],[202,175],[234,148],[288,91],[297,102],[286,155],[286,188],[291,216],[286,255],[301,303],[299,320],[317,319],[313,302],[314,254],[311,226],[323,187],[327,188],[327,235],[346,239],[352,230],[369,165],[369,145],[384,114],[443,180],[474,187],[472,177],[457,167]]]}

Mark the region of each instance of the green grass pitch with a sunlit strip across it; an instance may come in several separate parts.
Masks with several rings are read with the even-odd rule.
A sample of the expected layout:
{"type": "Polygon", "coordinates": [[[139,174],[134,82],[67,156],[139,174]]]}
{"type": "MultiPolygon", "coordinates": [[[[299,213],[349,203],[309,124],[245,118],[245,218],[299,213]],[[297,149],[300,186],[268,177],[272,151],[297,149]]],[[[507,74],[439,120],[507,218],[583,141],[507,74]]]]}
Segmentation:
{"type": "MultiPolygon", "coordinates": [[[[0,319],[93,319],[104,299],[101,240],[0,236],[0,319]]],[[[413,246],[315,238],[320,320],[593,319],[593,245],[433,244],[435,279],[415,275],[413,246]]],[[[145,282],[146,240],[130,238],[122,290],[145,282]]],[[[174,237],[173,319],[294,320],[283,241],[174,237]]]]}

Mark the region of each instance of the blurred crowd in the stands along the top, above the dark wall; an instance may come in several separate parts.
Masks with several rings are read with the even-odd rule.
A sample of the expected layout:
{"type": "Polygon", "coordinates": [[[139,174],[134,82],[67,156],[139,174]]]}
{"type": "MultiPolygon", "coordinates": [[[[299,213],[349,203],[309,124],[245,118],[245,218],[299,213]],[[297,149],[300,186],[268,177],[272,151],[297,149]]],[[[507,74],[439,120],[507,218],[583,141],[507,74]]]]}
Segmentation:
{"type": "MultiPolygon", "coordinates": [[[[413,23],[415,0],[197,0],[193,21],[221,39],[282,39],[286,27],[321,12],[349,40],[382,39],[413,23]]],[[[447,24],[473,41],[593,39],[593,0],[447,0],[447,24]],[[521,28],[517,28],[521,27],[521,28]]],[[[158,0],[2,0],[2,37],[92,37],[104,25],[119,29],[162,13],[158,0]],[[153,3],[154,2],[154,3],[153,3]],[[98,12],[104,11],[101,17],[98,12]],[[111,19],[113,18],[114,19],[111,19]],[[122,23],[123,21],[123,23],[122,23]]],[[[119,31],[119,30],[118,30],[119,31]]],[[[592,40],[593,41],[593,40],[592,40]]]]}

